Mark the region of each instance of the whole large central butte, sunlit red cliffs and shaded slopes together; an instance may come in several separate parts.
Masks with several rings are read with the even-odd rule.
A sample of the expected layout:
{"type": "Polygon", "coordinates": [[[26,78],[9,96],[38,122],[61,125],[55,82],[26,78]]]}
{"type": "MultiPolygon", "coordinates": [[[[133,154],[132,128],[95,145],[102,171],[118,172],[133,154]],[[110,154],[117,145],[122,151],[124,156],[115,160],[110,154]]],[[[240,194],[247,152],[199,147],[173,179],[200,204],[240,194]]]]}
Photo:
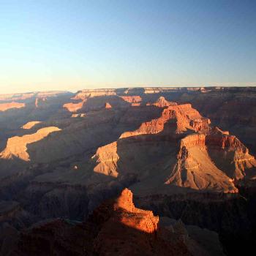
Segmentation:
{"type": "Polygon", "coordinates": [[[181,188],[187,188],[197,192],[237,193],[233,176],[230,175],[233,165],[226,164],[225,168],[225,165],[218,165],[218,162],[226,161],[227,151],[236,151],[236,157],[231,161],[233,163],[244,152],[244,161],[247,161],[244,169],[251,168],[251,173],[255,173],[255,159],[248,154],[248,150],[239,140],[227,132],[223,133],[227,137],[222,141],[224,144],[215,142],[220,130],[211,129],[210,124],[211,121],[200,116],[191,105],[169,106],[162,111],[160,118],[143,123],[134,132],[124,132],[116,142],[98,148],[92,158],[95,163],[94,172],[115,178],[125,173],[136,173],[140,183],[132,186],[132,189],[138,195],[154,193],[159,187],[165,193],[176,193],[178,188],[180,192],[181,188]],[[166,151],[163,150],[165,141],[169,141],[166,151]],[[214,145],[217,145],[218,157],[214,155],[214,145]],[[143,151],[143,147],[147,151],[143,151]],[[226,153],[223,147],[229,148],[224,150],[226,153]],[[153,153],[156,151],[159,156],[153,153]],[[220,153],[222,151],[223,154],[220,153]],[[155,162],[149,160],[151,157],[155,162]],[[149,170],[144,167],[145,162],[143,166],[143,159],[147,159],[149,170]],[[143,171],[144,168],[146,171],[143,171]],[[157,168],[164,171],[151,180],[157,168]]]}

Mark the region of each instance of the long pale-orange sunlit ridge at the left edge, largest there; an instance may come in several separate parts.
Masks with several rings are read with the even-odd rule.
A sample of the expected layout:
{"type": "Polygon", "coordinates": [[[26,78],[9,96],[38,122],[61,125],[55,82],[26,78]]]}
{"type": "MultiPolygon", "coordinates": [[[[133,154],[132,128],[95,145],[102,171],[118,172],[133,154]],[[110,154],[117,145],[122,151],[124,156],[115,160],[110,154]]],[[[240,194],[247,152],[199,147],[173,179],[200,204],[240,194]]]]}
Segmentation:
{"type": "Polygon", "coordinates": [[[51,132],[58,132],[58,127],[44,127],[31,135],[15,136],[7,140],[7,146],[0,153],[0,158],[12,159],[18,157],[24,161],[30,161],[27,145],[47,137],[51,132]]]}

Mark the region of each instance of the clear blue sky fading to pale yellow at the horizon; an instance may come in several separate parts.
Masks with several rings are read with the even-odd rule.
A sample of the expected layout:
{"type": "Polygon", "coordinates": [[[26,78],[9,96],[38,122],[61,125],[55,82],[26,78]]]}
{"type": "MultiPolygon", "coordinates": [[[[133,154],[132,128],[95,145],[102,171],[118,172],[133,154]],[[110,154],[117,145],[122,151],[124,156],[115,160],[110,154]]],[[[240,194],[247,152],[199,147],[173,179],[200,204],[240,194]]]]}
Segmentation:
{"type": "Polygon", "coordinates": [[[0,93],[256,86],[256,1],[0,0],[0,93]]]}

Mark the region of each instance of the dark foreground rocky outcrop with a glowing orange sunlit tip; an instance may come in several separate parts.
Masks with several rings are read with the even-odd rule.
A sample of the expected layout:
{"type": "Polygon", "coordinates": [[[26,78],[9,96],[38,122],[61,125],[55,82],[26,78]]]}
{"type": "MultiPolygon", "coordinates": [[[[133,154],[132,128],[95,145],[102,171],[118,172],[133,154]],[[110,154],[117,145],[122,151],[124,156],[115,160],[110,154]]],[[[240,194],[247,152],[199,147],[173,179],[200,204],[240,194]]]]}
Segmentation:
{"type": "Polygon", "coordinates": [[[132,192],[124,189],[116,200],[102,203],[86,222],[55,219],[23,230],[9,246],[7,255],[84,255],[86,252],[86,255],[203,256],[214,255],[210,249],[214,247],[222,255],[214,233],[200,228],[193,231],[187,231],[181,221],[159,227],[159,217],[152,211],[135,208],[132,192]]]}

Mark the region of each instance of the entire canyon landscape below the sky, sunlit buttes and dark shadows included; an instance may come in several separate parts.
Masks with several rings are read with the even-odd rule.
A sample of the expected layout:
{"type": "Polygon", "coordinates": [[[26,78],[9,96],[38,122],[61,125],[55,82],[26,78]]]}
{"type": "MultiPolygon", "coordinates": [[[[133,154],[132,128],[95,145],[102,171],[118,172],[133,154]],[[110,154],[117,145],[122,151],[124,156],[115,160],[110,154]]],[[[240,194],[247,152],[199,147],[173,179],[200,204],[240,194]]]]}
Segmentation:
{"type": "Polygon", "coordinates": [[[0,106],[2,255],[253,248],[254,87],[46,91],[0,106]]]}

